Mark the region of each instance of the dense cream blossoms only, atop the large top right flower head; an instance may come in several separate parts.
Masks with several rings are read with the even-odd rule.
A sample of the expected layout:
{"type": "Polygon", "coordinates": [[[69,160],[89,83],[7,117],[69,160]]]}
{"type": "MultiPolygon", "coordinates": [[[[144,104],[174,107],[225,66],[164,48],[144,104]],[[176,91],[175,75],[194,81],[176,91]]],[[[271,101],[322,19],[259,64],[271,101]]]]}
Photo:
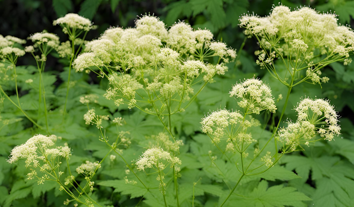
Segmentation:
{"type": "Polygon", "coordinates": [[[338,55],[333,59],[339,60],[354,51],[354,32],[338,26],[335,13],[319,13],[309,7],[291,11],[280,5],[269,16],[246,14],[239,21],[245,34],[257,36],[264,48],[276,45],[277,53],[296,59],[311,59],[319,50],[320,54],[338,55]]]}

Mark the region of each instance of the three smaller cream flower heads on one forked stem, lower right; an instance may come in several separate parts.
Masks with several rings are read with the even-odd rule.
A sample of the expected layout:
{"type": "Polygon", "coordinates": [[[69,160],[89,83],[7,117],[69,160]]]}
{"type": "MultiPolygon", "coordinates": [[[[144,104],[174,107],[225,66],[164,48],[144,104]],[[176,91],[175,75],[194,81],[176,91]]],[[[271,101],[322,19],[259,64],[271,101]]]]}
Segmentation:
{"type": "MultiPolygon", "coordinates": [[[[274,138],[275,152],[264,152],[270,140],[259,149],[258,138],[253,137],[252,133],[247,133],[247,129],[260,125],[260,122],[249,114],[259,114],[262,110],[275,113],[276,107],[269,86],[255,78],[247,79],[234,85],[230,96],[239,98],[238,105],[244,108],[243,113],[220,109],[206,115],[201,121],[202,131],[210,137],[212,143],[227,157],[229,162],[234,161],[227,155],[227,152],[239,154],[236,168],[241,176],[220,206],[226,203],[244,176],[264,173],[273,167],[285,153],[303,150],[303,146],[322,139],[331,141],[340,134],[338,115],[329,101],[306,98],[295,107],[298,115],[296,122],[288,121],[288,125],[278,131],[274,138]],[[221,141],[227,142],[225,149],[219,146],[221,141]],[[250,156],[250,153],[253,156],[250,156]]],[[[211,159],[216,158],[211,157],[211,159]]]]}

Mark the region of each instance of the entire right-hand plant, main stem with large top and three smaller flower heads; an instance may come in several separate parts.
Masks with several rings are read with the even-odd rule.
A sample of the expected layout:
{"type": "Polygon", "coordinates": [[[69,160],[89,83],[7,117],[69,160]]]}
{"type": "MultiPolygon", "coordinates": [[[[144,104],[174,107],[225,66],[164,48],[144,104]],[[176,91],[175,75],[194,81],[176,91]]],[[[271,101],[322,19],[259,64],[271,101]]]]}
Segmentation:
{"type": "MultiPolygon", "coordinates": [[[[349,54],[354,51],[352,29],[338,26],[335,14],[321,14],[309,7],[291,11],[290,8],[280,5],[273,7],[267,17],[247,14],[240,17],[239,21],[240,27],[245,28],[245,34],[249,38],[255,37],[261,47],[261,50],[255,52],[258,55],[257,65],[261,69],[267,69],[274,78],[287,86],[288,92],[278,125],[274,127],[272,136],[261,149],[257,138],[251,134],[240,133],[247,130],[244,126],[246,114],[259,114],[265,109],[272,113],[276,111],[271,90],[261,81],[245,80],[236,84],[230,92],[231,97],[239,99],[239,107],[244,108],[243,118],[238,111],[219,110],[202,119],[202,130],[224,155],[225,151],[240,154],[241,167],[238,167],[238,163],[236,167],[241,176],[220,206],[227,202],[244,176],[264,173],[285,153],[303,150],[303,146],[321,139],[331,141],[334,136],[340,134],[337,112],[328,100],[323,99],[301,100],[295,108],[298,114],[296,122],[289,120],[286,127],[279,131],[278,128],[291,89],[309,80],[313,84],[328,82],[328,77],[320,77],[320,69],[336,61],[343,61],[344,65],[349,64],[349,54]],[[276,68],[276,59],[284,64],[285,72],[276,68]],[[232,118],[232,113],[237,114],[237,118],[232,118]],[[240,126],[236,126],[235,123],[240,120],[240,126]],[[218,146],[220,138],[230,142],[225,151],[218,146]],[[275,151],[264,152],[273,138],[275,151]],[[245,151],[250,146],[254,149],[253,156],[249,156],[250,153],[245,151]]],[[[278,99],[282,99],[282,96],[278,99]]]]}

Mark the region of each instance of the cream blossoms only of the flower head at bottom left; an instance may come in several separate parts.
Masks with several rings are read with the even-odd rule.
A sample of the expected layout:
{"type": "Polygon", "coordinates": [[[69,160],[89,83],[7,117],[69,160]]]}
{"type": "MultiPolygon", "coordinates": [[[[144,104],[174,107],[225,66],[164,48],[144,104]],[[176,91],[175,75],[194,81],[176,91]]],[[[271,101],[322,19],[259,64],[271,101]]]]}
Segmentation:
{"type": "Polygon", "coordinates": [[[54,159],[55,157],[69,158],[70,148],[68,146],[53,147],[57,136],[35,135],[22,145],[12,149],[11,155],[7,160],[9,163],[15,163],[20,158],[27,158],[26,167],[39,167],[40,161],[54,159]]]}

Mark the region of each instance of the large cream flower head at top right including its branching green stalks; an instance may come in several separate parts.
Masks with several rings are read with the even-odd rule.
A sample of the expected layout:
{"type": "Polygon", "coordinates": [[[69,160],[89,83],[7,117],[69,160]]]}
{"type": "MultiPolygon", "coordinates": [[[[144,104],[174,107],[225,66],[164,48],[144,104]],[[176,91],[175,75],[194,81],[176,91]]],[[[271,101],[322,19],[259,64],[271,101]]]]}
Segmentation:
{"type": "Polygon", "coordinates": [[[354,32],[337,20],[335,13],[280,5],[266,17],[241,16],[239,25],[248,37],[258,40],[261,50],[255,52],[256,63],[291,88],[302,82],[326,83],[329,78],[321,77],[323,67],[336,61],[352,62],[354,32]],[[276,59],[286,67],[285,73],[274,65],[276,59]]]}

